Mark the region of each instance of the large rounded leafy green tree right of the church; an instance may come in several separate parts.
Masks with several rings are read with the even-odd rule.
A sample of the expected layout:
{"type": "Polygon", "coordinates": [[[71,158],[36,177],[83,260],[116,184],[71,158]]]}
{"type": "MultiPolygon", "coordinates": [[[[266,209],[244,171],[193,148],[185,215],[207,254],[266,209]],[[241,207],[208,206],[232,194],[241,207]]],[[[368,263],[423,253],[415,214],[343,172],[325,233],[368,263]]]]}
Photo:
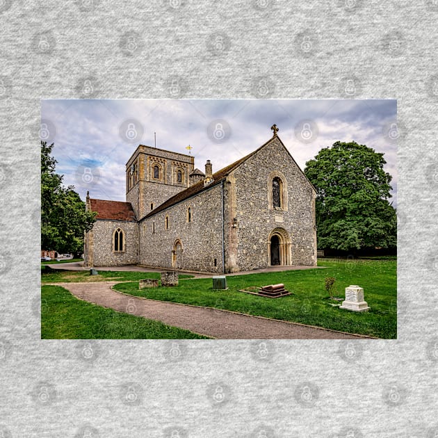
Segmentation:
{"type": "Polygon", "coordinates": [[[392,177],[383,169],[383,155],[338,141],[307,161],[305,175],[317,192],[318,248],[396,248],[396,210],[388,201],[392,177]]]}

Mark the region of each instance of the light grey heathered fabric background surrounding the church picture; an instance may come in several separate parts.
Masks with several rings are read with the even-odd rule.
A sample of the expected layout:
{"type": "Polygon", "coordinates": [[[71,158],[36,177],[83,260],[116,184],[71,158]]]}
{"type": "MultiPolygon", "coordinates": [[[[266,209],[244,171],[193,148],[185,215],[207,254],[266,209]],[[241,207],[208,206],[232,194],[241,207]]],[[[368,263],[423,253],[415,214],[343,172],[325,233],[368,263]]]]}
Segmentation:
{"type": "Polygon", "coordinates": [[[0,17],[2,436],[436,436],[437,1],[2,0],[0,17]],[[348,79],[398,99],[397,341],[270,341],[261,361],[257,341],[40,340],[40,98],[342,98],[348,79]]]}

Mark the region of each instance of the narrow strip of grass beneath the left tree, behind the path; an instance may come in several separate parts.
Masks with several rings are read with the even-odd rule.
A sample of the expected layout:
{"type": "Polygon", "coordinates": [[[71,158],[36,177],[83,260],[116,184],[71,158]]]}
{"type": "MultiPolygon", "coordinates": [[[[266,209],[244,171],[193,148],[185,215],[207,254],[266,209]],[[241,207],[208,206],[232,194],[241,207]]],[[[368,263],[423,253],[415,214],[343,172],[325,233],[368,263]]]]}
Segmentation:
{"type": "MultiPolygon", "coordinates": [[[[41,283],[79,283],[79,282],[138,282],[143,278],[160,278],[161,273],[143,273],[131,272],[127,270],[113,271],[113,270],[99,270],[98,275],[90,275],[89,270],[59,270],[51,269],[46,271],[41,269],[41,283]]],[[[193,278],[193,275],[179,275],[179,278],[193,278]]]]}

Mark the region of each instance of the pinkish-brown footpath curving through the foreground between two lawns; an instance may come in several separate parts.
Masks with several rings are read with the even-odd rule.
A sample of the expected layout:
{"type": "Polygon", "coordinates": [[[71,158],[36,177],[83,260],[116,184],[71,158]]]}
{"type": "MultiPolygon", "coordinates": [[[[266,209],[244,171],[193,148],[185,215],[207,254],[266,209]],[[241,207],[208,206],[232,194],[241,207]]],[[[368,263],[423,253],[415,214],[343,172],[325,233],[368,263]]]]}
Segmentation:
{"type": "Polygon", "coordinates": [[[161,321],[217,339],[365,339],[366,336],[286,323],[232,311],[147,300],[113,291],[117,282],[58,283],[81,300],[161,321]]]}

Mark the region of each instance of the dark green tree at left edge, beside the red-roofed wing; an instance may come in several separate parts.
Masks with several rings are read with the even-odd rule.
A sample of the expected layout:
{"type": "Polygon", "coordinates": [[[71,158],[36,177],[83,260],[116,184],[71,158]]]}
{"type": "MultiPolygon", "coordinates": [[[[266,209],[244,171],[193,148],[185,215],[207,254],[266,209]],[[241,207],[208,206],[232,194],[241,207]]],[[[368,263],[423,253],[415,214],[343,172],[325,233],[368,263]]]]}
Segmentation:
{"type": "Polygon", "coordinates": [[[86,211],[74,186],[63,186],[63,175],[56,174],[56,160],[50,155],[53,147],[41,142],[41,248],[77,257],[96,213],[86,211]]]}

